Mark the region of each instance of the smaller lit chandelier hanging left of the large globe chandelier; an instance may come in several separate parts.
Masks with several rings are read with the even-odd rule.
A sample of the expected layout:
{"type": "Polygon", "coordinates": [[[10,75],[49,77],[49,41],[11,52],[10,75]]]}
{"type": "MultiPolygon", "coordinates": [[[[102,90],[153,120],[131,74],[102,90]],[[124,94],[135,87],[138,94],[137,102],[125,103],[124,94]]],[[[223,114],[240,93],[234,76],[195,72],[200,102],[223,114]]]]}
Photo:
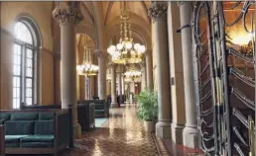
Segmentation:
{"type": "Polygon", "coordinates": [[[91,62],[91,50],[84,45],[83,62],[76,65],[78,75],[93,76],[98,73],[98,66],[91,62]]]}

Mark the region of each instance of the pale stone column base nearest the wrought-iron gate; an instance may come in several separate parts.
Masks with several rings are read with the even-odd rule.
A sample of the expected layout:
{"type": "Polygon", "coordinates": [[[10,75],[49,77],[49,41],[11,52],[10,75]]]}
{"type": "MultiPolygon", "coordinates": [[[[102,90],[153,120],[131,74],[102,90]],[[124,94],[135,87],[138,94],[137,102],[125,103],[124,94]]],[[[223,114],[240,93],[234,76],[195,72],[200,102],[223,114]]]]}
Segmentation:
{"type": "Polygon", "coordinates": [[[189,148],[198,148],[198,130],[196,127],[185,127],[183,134],[184,146],[189,148]]]}

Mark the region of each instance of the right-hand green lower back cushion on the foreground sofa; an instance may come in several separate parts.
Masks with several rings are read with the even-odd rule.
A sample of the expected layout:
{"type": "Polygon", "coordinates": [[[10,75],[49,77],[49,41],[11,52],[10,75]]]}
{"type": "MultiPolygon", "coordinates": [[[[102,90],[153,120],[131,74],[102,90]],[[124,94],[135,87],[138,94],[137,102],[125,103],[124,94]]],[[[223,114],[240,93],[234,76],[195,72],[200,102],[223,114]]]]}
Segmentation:
{"type": "Polygon", "coordinates": [[[54,134],[54,119],[36,120],[35,134],[54,134]]]}

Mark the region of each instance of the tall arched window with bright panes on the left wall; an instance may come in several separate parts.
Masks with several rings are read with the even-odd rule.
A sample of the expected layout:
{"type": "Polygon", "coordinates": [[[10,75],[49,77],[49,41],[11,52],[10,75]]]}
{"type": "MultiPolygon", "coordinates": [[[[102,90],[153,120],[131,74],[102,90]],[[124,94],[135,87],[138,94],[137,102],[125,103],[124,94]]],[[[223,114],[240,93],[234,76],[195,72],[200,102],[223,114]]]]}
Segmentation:
{"type": "Polygon", "coordinates": [[[39,44],[35,25],[31,21],[18,21],[14,33],[13,109],[18,109],[22,102],[26,105],[33,105],[36,102],[35,58],[39,44]]]}

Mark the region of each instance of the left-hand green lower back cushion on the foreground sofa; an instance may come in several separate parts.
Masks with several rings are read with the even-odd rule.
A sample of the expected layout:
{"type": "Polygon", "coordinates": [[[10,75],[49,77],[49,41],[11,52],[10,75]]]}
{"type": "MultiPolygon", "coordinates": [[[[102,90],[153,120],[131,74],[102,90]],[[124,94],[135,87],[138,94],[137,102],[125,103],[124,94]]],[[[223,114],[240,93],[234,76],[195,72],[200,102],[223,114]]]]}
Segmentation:
{"type": "Polygon", "coordinates": [[[6,135],[27,135],[34,133],[34,121],[32,120],[7,120],[5,122],[6,135]]]}

